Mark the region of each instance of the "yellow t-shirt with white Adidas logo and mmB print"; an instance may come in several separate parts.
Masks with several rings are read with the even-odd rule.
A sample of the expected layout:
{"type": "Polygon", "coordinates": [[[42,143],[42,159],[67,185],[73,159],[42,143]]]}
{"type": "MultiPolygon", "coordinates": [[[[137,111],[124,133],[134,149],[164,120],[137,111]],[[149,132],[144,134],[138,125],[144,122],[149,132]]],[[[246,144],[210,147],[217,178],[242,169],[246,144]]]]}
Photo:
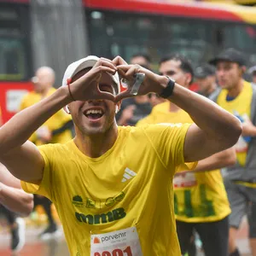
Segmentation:
{"type": "Polygon", "coordinates": [[[39,186],[21,182],[22,188],[53,201],[73,256],[90,255],[91,235],[130,227],[137,229],[143,255],[181,255],[172,177],[177,166],[195,166],[184,166],[188,129],[122,126],[113,147],[98,158],[82,154],[73,140],[41,146],[43,180],[39,186]]]}

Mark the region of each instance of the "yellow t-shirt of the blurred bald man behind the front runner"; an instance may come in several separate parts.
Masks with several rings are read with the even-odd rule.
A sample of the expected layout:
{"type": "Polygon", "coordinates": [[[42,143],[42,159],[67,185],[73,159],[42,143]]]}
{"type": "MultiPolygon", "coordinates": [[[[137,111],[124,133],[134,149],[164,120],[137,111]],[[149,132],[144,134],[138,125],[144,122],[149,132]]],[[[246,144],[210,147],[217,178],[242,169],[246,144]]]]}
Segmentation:
{"type": "MultiPolygon", "coordinates": [[[[47,96],[50,96],[54,92],[55,92],[55,88],[51,88],[47,96]]],[[[41,100],[42,100],[42,96],[32,91],[28,93],[26,96],[24,96],[24,98],[22,99],[22,102],[20,104],[20,110],[31,107],[32,105],[40,102],[41,100]]],[[[49,131],[54,131],[56,129],[61,128],[61,126],[66,124],[68,120],[71,120],[71,116],[65,113],[63,109],[61,109],[57,113],[55,113],[52,117],[50,117],[44,123],[44,125],[41,126],[41,129],[42,128],[44,129],[44,126],[46,126],[49,129],[49,131]]],[[[71,131],[63,131],[60,134],[53,136],[49,143],[67,143],[71,139],[72,139],[71,131]]],[[[32,137],[30,137],[30,140],[36,145],[43,144],[43,142],[38,139],[36,132],[32,134],[32,137]]]]}

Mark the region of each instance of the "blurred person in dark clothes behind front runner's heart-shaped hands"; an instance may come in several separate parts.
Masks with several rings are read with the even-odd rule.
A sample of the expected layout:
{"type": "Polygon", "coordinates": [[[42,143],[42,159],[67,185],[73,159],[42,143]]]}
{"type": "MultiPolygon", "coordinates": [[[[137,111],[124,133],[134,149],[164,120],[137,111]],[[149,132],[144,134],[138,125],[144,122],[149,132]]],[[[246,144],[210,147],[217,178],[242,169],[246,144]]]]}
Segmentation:
{"type": "MultiPolygon", "coordinates": [[[[148,55],[132,55],[130,63],[151,70],[151,59],[148,55]]],[[[137,124],[137,121],[147,116],[151,112],[151,109],[152,107],[147,95],[125,99],[121,105],[119,113],[116,115],[117,123],[118,125],[134,126],[137,124]]]]}

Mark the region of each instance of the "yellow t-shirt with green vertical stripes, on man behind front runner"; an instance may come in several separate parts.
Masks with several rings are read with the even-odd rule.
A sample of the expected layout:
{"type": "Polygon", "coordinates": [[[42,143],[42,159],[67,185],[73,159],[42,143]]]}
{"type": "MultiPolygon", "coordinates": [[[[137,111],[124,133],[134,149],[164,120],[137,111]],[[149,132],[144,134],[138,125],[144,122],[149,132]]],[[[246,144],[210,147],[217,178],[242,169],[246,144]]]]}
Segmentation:
{"type": "MultiPolygon", "coordinates": [[[[193,123],[189,114],[179,109],[170,112],[170,102],[152,109],[152,113],[137,125],[159,123],[193,123]]],[[[176,219],[183,222],[218,221],[230,214],[230,205],[219,170],[187,173],[173,179],[176,219]]]]}

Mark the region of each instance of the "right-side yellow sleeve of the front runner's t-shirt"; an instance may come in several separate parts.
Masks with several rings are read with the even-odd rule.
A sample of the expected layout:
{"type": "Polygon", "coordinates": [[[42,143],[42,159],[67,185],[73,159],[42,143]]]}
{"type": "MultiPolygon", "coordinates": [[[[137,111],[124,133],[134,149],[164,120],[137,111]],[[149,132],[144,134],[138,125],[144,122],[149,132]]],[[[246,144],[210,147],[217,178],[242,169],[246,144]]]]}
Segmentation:
{"type": "Polygon", "coordinates": [[[184,143],[190,125],[166,123],[146,128],[153,131],[148,138],[166,169],[180,172],[193,170],[197,165],[197,162],[184,162],[184,143]]]}

